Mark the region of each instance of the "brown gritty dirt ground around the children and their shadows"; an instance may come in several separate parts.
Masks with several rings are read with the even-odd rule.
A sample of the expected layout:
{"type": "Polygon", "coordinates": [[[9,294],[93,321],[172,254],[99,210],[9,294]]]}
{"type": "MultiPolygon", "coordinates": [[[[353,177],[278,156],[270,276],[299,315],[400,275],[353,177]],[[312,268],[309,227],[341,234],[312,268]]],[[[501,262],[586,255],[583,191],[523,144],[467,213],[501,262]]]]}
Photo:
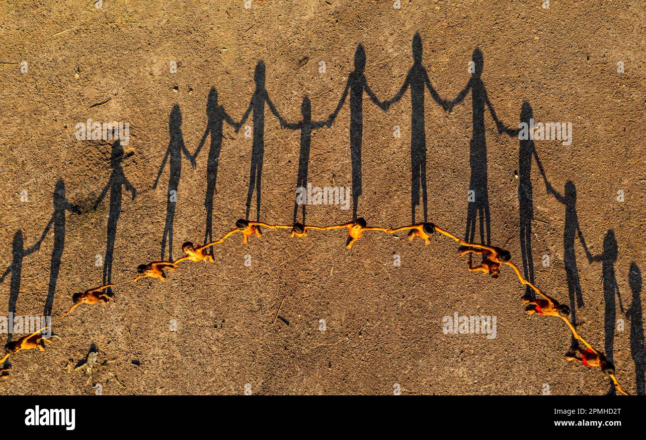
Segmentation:
{"type": "MultiPolygon", "coordinates": [[[[340,230],[303,239],[264,230],[248,246],[234,235],[214,247],[213,265],[182,263],[165,282],[124,283],[109,304],[63,316],[74,292],[103,283],[108,248],[112,282],[123,283],[136,266],[160,259],[169,219],[165,258],[168,241],[174,259],[184,241],[203,243],[213,164],[213,237],[245,217],[253,146],[256,154],[263,146],[258,112],[238,132],[224,122],[211,168],[209,149],[220,148],[211,134],[194,168],[181,153],[182,142],[188,155],[196,152],[207,126],[220,130],[213,115],[222,112],[207,107],[209,90],[240,121],[262,60],[266,94],[287,122],[302,119],[305,95],[312,119],[325,120],[358,78],[351,75],[358,45],[370,90],[384,101],[413,66],[417,32],[417,66],[440,99],[455,99],[467,84],[474,90],[450,113],[428,90],[413,110],[407,90],[387,112],[363,94],[361,121],[361,104],[351,108],[348,97],[331,127],[313,130],[307,182],[356,185],[351,148],[362,123],[357,214],[370,225],[410,225],[412,137],[419,146],[425,134],[428,221],[464,237],[468,191],[486,179],[485,194],[475,196],[488,195],[491,243],[506,246],[521,270],[523,256],[525,265],[532,256],[536,285],[565,304],[572,298],[581,334],[611,356],[630,394],[645,393],[641,2],[250,3],[0,1],[0,315],[41,315],[49,297],[61,338],[46,352],[11,357],[1,394],[95,394],[95,383],[103,394],[612,392],[598,369],[565,361],[570,335],[559,319],[524,313],[525,289],[509,268],[498,279],[472,274],[455,243],[437,234],[424,246],[405,233],[366,232],[351,250],[340,230]],[[469,70],[475,49],[484,60],[479,77],[469,70]],[[518,126],[524,102],[536,121],[572,123],[572,144],[536,140],[536,155],[527,153],[527,142],[499,133],[488,109],[484,137],[475,136],[476,89],[478,98],[486,91],[506,126],[518,126]],[[77,140],[76,125],[87,119],[129,123],[123,152],[109,140],[77,140]],[[485,143],[485,155],[475,154],[474,145],[485,143]],[[519,197],[523,179],[532,190],[519,197]],[[52,213],[56,226],[36,249],[52,213]],[[273,323],[281,303],[282,319],[273,323]],[[444,334],[444,317],[456,312],[495,317],[495,337],[444,334]],[[85,371],[67,366],[92,344],[99,363],[114,362],[96,368],[89,382],[85,371]]],[[[300,130],[281,128],[264,107],[262,221],[292,223],[301,146],[300,130]]],[[[345,223],[352,213],[307,206],[307,223],[345,223]]],[[[418,222],[422,213],[421,204],[418,222]]],[[[472,216],[477,241],[487,223],[479,215],[472,216]]],[[[256,220],[255,190],[249,219],[256,220]]]]}

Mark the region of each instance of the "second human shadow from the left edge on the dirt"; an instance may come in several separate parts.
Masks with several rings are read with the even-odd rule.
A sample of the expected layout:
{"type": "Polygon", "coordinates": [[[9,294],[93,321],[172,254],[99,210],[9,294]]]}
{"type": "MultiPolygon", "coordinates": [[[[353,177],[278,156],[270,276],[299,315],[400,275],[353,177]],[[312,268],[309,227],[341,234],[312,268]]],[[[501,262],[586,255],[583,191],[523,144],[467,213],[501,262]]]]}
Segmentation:
{"type": "Polygon", "coordinates": [[[56,283],[61,269],[63,250],[65,249],[65,211],[72,211],[76,214],[81,214],[79,207],[70,203],[67,200],[67,197],[65,197],[65,182],[63,179],[58,179],[54,188],[54,214],[52,214],[51,219],[51,222],[54,224],[54,247],[52,248],[49,286],[47,290],[47,298],[45,299],[45,309],[43,312],[43,315],[45,316],[52,315],[56,283]]]}

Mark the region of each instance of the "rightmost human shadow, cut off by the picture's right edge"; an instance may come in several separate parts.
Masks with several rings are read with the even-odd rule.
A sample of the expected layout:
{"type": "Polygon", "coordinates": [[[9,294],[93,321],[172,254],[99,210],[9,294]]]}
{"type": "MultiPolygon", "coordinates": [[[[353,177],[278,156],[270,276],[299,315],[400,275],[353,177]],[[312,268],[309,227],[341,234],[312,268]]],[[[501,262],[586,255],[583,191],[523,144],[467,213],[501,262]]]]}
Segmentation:
{"type": "Polygon", "coordinates": [[[628,283],[632,290],[632,302],[627,315],[630,317],[630,354],[635,363],[635,385],[637,395],[646,395],[646,346],[644,345],[643,312],[641,310],[641,271],[634,263],[630,263],[628,283]]]}

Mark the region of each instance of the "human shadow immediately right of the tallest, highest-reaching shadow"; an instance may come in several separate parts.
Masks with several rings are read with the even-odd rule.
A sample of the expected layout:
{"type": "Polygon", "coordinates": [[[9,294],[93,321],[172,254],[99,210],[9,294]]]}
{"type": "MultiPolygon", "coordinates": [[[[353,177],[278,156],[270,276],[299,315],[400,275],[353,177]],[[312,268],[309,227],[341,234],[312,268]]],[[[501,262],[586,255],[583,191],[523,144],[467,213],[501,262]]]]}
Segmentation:
{"type": "Polygon", "coordinates": [[[448,110],[461,103],[471,90],[472,96],[472,138],[470,141],[471,180],[469,183],[470,199],[466,214],[466,231],[464,239],[474,241],[475,225],[479,220],[480,243],[491,242],[491,219],[489,212],[489,191],[487,177],[487,149],[485,137],[485,106],[494,119],[499,132],[503,123],[495,114],[494,107],[489,101],[485,83],[482,80],[485,59],[480,49],[476,48],[472,55],[474,72],[467,85],[453,101],[448,101],[448,110]]]}

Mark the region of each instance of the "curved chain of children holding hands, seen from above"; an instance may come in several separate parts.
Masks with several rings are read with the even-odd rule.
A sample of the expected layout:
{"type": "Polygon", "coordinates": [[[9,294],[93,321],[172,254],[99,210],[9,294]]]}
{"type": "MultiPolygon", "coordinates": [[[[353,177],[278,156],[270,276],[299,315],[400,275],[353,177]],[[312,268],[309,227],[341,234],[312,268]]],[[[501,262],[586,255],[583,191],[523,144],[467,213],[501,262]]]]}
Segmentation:
{"type": "MultiPolygon", "coordinates": [[[[502,248],[497,248],[495,246],[486,246],[478,243],[468,243],[467,241],[464,241],[463,239],[459,239],[452,233],[448,232],[447,230],[444,230],[443,228],[437,225],[434,225],[433,223],[420,223],[418,225],[401,226],[399,228],[386,228],[383,226],[368,226],[366,224],[366,221],[363,218],[358,218],[348,223],[343,223],[340,225],[332,225],[332,226],[302,225],[301,223],[295,223],[294,225],[269,225],[267,223],[260,222],[260,221],[247,221],[244,219],[240,219],[236,221],[236,228],[234,228],[233,230],[230,230],[225,235],[223,235],[222,238],[216,241],[211,241],[210,243],[206,243],[205,245],[198,245],[198,246],[194,246],[193,243],[191,242],[184,243],[182,246],[182,250],[185,252],[186,255],[184,257],[181,257],[180,259],[177,259],[175,261],[152,261],[147,265],[138,266],[137,268],[138,275],[132,280],[126,280],[126,281],[121,281],[121,283],[115,283],[115,284],[100,286],[97,288],[91,288],[89,290],[86,290],[85,292],[74,294],[72,296],[72,301],[74,303],[69,308],[69,310],[65,313],[65,316],[69,315],[70,312],[74,310],[74,308],[78,307],[83,303],[85,304],[108,303],[110,299],[112,299],[112,297],[110,297],[110,295],[108,295],[107,292],[104,292],[104,290],[107,289],[108,287],[116,287],[118,285],[123,285],[125,283],[135,283],[136,281],[144,277],[153,277],[153,278],[165,280],[166,277],[163,273],[163,270],[165,269],[175,270],[178,267],[178,264],[181,263],[182,261],[194,261],[194,262],[209,261],[211,263],[214,263],[213,253],[209,252],[209,248],[211,248],[211,246],[223,243],[225,239],[231,237],[231,235],[236,233],[242,234],[243,243],[246,245],[249,243],[249,237],[251,237],[252,235],[256,235],[259,238],[262,237],[262,232],[260,229],[261,227],[268,228],[268,229],[290,229],[291,237],[306,237],[307,230],[329,231],[329,230],[346,228],[348,230],[348,242],[346,244],[346,248],[348,249],[351,249],[354,243],[356,243],[356,241],[362,237],[364,231],[367,231],[367,230],[381,231],[381,232],[386,232],[387,234],[393,234],[395,232],[402,232],[402,231],[408,230],[409,241],[413,241],[415,237],[418,237],[424,240],[425,245],[430,244],[430,236],[435,232],[438,232],[441,235],[445,235],[446,237],[452,239],[459,245],[464,246],[464,248],[466,248],[466,250],[462,250],[460,252],[460,255],[474,253],[482,256],[481,265],[476,266],[474,268],[471,266],[471,263],[469,263],[470,272],[483,272],[483,274],[485,275],[488,274],[494,278],[497,278],[500,273],[501,265],[510,266],[512,270],[514,270],[514,272],[516,273],[516,276],[518,277],[518,280],[520,281],[521,285],[529,286],[530,288],[532,288],[532,290],[534,290],[534,292],[536,292],[536,294],[540,295],[543,298],[543,299],[532,299],[530,297],[523,297],[523,300],[521,301],[522,303],[532,303],[530,306],[528,306],[528,308],[526,309],[526,312],[528,314],[532,314],[536,312],[541,315],[560,317],[563,320],[563,322],[566,323],[566,325],[572,332],[572,335],[574,335],[574,338],[580,341],[581,343],[583,343],[587,347],[587,354],[586,352],[583,352],[583,350],[579,348],[579,352],[581,352],[581,359],[576,357],[576,354],[574,354],[573,352],[568,352],[568,355],[570,355],[570,353],[572,353],[572,355],[569,357],[568,355],[566,355],[567,359],[570,361],[572,360],[581,361],[586,366],[599,366],[599,368],[601,368],[601,370],[605,374],[609,375],[610,379],[612,379],[612,382],[614,383],[614,386],[617,388],[617,390],[619,390],[621,394],[628,395],[628,393],[623,390],[620,383],[618,383],[614,375],[614,366],[612,366],[612,364],[607,361],[603,352],[599,352],[598,350],[596,350],[592,345],[590,345],[590,343],[588,343],[588,341],[586,341],[583,337],[581,337],[581,335],[579,335],[579,333],[577,332],[576,328],[574,328],[574,325],[572,325],[572,323],[567,317],[569,314],[569,309],[567,308],[567,306],[559,305],[556,299],[544,294],[536,285],[527,281],[525,277],[523,277],[523,275],[521,274],[519,268],[510,261],[511,254],[507,250],[504,250],[502,248]],[[565,308],[567,313],[563,313],[563,308],[565,308]],[[592,365],[589,365],[588,361],[592,363],[592,365]]],[[[6,355],[5,357],[3,357],[3,359],[0,360],[0,364],[3,364],[10,355],[16,354],[21,350],[37,347],[41,351],[45,351],[45,341],[47,341],[48,343],[51,341],[49,341],[48,339],[45,339],[43,337],[43,334],[40,334],[40,332],[42,330],[45,330],[46,328],[47,327],[41,328],[30,335],[23,336],[17,339],[16,341],[7,344],[5,346],[6,355]]],[[[1,370],[1,371],[5,371],[5,370],[1,370]]],[[[7,377],[7,375],[5,374],[2,377],[7,377]]]]}

